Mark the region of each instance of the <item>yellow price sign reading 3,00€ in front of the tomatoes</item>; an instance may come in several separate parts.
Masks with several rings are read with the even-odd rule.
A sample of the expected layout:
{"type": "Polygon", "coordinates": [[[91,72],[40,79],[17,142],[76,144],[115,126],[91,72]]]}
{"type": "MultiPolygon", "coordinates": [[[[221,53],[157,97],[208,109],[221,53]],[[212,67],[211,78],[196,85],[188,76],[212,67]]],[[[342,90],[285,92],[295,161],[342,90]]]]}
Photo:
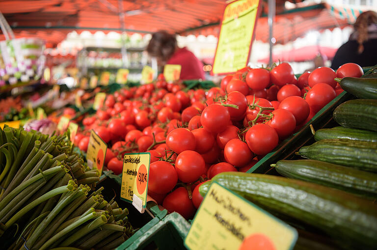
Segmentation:
{"type": "Polygon", "coordinates": [[[151,153],[125,154],[120,198],[130,202],[142,213],[147,204],[151,153]]]}

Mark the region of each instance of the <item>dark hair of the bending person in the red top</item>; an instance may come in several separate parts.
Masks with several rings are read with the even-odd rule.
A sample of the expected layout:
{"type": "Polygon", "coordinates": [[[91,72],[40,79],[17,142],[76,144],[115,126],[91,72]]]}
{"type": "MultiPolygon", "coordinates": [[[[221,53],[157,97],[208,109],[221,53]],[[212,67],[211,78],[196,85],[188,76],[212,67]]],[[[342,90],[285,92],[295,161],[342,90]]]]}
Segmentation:
{"type": "Polygon", "coordinates": [[[151,56],[160,57],[163,61],[167,61],[174,53],[176,46],[175,35],[166,31],[159,31],[152,35],[147,46],[147,52],[151,56]]]}

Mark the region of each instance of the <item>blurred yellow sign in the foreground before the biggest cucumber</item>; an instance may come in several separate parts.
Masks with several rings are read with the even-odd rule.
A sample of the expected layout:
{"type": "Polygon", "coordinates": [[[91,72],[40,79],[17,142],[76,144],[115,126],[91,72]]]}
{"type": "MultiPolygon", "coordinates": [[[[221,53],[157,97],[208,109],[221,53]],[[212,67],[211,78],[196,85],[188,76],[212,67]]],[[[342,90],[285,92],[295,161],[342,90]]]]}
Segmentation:
{"type": "Polygon", "coordinates": [[[213,182],[185,238],[189,250],[291,250],[295,228],[213,182]],[[255,245],[253,245],[255,244],[255,245]],[[258,248],[260,249],[260,248],[258,248]]]}

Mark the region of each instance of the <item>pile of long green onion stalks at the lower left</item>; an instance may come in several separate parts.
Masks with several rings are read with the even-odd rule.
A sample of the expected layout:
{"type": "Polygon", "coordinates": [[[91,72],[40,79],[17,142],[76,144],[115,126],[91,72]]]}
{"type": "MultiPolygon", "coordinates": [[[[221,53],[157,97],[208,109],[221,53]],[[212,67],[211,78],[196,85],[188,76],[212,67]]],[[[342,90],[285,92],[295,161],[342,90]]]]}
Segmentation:
{"type": "Polygon", "coordinates": [[[127,208],[105,201],[103,188],[93,190],[98,181],[98,171],[72,153],[68,133],[0,129],[0,242],[8,242],[3,249],[118,247],[135,230],[127,208]]]}

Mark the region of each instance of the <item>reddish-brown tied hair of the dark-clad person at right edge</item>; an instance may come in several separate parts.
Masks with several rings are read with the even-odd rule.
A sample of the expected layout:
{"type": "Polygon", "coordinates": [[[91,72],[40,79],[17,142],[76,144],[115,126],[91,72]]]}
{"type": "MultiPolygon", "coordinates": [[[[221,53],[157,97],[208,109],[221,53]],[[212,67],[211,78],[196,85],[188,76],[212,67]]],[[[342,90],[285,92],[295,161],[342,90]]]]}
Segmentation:
{"type": "Polygon", "coordinates": [[[365,11],[361,13],[356,22],[353,24],[355,33],[357,34],[357,43],[359,44],[358,52],[361,54],[364,51],[363,43],[368,40],[368,26],[377,23],[377,13],[375,11],[365,11]]]}

